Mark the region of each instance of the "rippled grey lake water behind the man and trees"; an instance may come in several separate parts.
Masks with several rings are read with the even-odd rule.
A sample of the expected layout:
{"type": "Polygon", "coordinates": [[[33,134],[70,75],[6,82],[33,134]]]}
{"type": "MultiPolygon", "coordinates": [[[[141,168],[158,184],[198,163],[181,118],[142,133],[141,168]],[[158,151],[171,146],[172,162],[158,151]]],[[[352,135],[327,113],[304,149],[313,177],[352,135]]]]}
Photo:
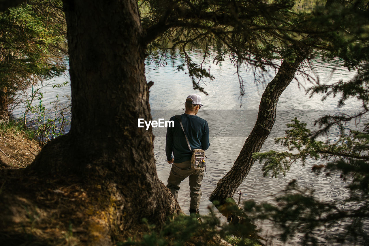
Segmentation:
{"type": "MultiPolygon", "coordinates": [[[[194,54],[195,61],[202,61],[201,54],[194,54]]],[[[183,113],[183,102],[187,95],[196,93],[192,89],[192,83],[185,72],[176,71],[176,65],[180,64],[182,58],[174,59],[173,64],[169,63],[166,67],[156,67],[155,63],[146,64],[146,79],[154,81],[150,92],[150,105],[152,109],[152,118],[157,120],[169,118],[176,114],[183,113]]],[[[353,72],[348,72],[347,69],[332,65],[334,63],[322,62],[317,60],[311,61],[313,69],[309,70],[309,74],[320,83],[333,83],[340,79],[348,80],[354,76],[353,72]]],[[[205,66],[209,65],[206,64],[205,66]]],[[[244,80],[245,96],[239,98],[239,81],[235,74],[236,69],[230,62],[223,62],[220,65],[214,65],[210,62],[211,73],[215,76],[214,81],[206,81],[205,90],[209,93],[208,96],[201,95],[203,105],[199,110],[198,116],[207,120],[209,124],[210,137],[217,134],[210,140],[210,147],[207,150],[207,168],[202,184],[202,198],[200,204],[200,213],[208,213],[207,207],[211,206],[208,197],[220,180],[228,170],[232,167],[239,151],[241,150],[244,141],[252,130],[258,113],[258,107],[263,89],[266,83],[275,75],[274,69],[269,69],[268,73],[263,73],[265,82],[258,83],[254,81],[254,71],[251,68],[242,68],[241,76],[244,80]],[[234,122],[233,124],[231,124],[234,122]],[[231,124],[230,126],[228,126],[231,124]],[[228,126],[226,129],[224,129],[228,126]],[[222,130],[224,129],[224,130],[222,130]],[[221,131],[222,130],[222,131],[221,131]],[[220,132],[219,132],[220,131],[220,132]]],[[[337,107],[337,99],[328,98],[321,102],[321,96],[313,96],[309,98],[306,95],[304,88],[310,87],[312,84],[304,79],[303,76],[297,75],[290,86],[283,92],[277,107],[277,120],[273,127],[268,140],[266,140],[261,151],[284,150],[280,145],[274,144],[274,138],[284,135],[286,124],[290,120],[297,117],[302,122],[306,122],[308,127],[316,129],[313,126],[314,120],[324,114],[332,113],[348,113],[352,114],[360,109],[361,103],[355,99],[349,100],[346,106],[337,107]]],[[[56,81],[65,81],[64,77],[59,77],[56,81]]],[[[201,84],[200,84],[201,85],[201,84]]],[[[70,94],[69,86],[64,89],[46,89],[45,102],[55,99],[55,95],[59,93],[70,94]]],[[[66,100],[66,98],[62,98],[66,100]]],[[[22,109],[17,109],[14,112],[15,116],[21,115],[22,109]]],[[[365,122],[365,119],[362,119],[365,122]]],[[[359,125],[358,127],[360,127],[359,125]]],[[[355,128],[355,124],[348,124],[346,129],[355,128]]],[[[156,167],[159,178],[164,184],[169,176],[170,167],[166,162],[165,156],[165,128],[154,128],[154,154],[156,159],[156,167]]],[[[338,133],[338,129],[332,129],[331,139],[338,133]]],[[[262,164],[255,163],[251,168],[249,175],[238,188],[242,192],[242,201],[254,199],[256,202],[273,201],[274,195],[282,194],[283,188],[287,183],[296,179],[302,187],[313,188],[316,190],[315,196],[326,201],[342,201],[347,197],[345,186],[346,182],[342,181],[338,175],[327,177],[325,175],[314,175],[311,172],[311,166],[318,164],[318,161],[308,161],[306,166],[294,165],[284,177],[279,175],[278,178],[263,177],[261,168],[262,164]]],[[[238,195],[235,195],[235,200],[238,201],[238,195]]],[[[183,211],[188,214],[189,210],[189,185],[188,178],[181,184],[179,191],[178,202],[183,211]]],[[[272,236],[276,233],[276,228],[268,222],[258,224],[263,231],[261,235],[268,238],[273,245],[282,244],[278,238],[272,236]]],[[[340,230],[340,225],[337,225],[331,230],[317,231],[317,234],[322,235],[324,242],[324,233],[340,230]]],[[[290,240],[287,245],[296,245],[299,237],[290,240]]],[[[333,242],[325,242],[325,245],[335,245],[333,242]]]]}

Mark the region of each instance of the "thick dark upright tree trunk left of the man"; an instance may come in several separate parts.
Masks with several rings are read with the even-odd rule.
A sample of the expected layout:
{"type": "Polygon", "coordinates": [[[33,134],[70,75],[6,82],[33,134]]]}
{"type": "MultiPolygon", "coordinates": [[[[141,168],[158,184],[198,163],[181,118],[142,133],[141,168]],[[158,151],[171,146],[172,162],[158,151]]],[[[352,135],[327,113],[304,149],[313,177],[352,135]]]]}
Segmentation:
{"type": "Polygon", "coordinates": [[[64,10],[71,128],[46,144],[30,170],[74,175],[95,187],[101,210],[94,214],[109,216],[107,223],[89,226],[101,237],[88,244],[109,244],[113,226],[129,229],[142,218],[162,225],[180,207],[157,176],[152,129],[137,127],[138,118],[151,120],[137,1],[66,0],[64,10]]]}

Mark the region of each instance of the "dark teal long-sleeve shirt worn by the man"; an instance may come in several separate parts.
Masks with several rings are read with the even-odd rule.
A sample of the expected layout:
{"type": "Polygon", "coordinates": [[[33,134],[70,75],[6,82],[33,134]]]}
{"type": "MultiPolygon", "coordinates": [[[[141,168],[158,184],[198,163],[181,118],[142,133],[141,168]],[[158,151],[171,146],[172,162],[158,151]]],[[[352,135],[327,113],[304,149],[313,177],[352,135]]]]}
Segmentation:
{"type": "MultiPolygon", "coordinates": [[[[196,148],[207,150],[210,145],[207,121],[196,115],[183,114],[180,117],[192,150],[196,148]]],[[[192,153],[179,121],[175,116],[171,117],[170,120],[174,121],[174,127],[166,129],[165,153],[167,160],[172,160],[172,153],[174,154],[174,163],[191,160],[192,153]]]]}

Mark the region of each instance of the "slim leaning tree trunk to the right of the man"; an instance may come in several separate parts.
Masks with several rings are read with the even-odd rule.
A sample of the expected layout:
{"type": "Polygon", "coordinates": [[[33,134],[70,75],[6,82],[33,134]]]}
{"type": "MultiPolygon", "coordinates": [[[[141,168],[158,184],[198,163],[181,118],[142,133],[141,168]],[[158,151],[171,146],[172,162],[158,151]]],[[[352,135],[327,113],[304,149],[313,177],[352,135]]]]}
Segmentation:
{"type": "Polygon", "coordinates": [[[239,156],[233,167],[218,182],[217,187],[211,193],[209,200],[218,201],[221,204],[227,198],[233,197],[237,187],[244,181],[248,175],[255,159],[252,153],[259,152],[276,120],[277,102],[284,89],[290,84],[293,76],[299,68],[301,62],[307,57],[312,49],[300,47],[297,50],[297,58],[294,62],[284,60],[279,67],[276,76],[266,86],[259,105],[258,119],[245,141],[239,156]]]}

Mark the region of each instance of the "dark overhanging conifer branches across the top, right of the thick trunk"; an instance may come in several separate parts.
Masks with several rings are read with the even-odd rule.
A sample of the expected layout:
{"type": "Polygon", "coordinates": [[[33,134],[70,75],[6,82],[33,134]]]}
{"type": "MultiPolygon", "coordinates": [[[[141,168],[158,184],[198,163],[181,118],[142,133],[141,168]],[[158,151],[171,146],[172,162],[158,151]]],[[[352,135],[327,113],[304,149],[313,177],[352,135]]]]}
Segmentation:
{"type": "Polygon", "coordinates": [[[324,4],[310,0],[146,0],[139,1],[139,9],[152,61],[165,66],[168,59],[182,56],[184,62],[177,69],[187,69],[193,88],[204,92],[199,83],[214,79],[211,63],[229,60],[243,96],[242,64],[255,68],[255,82],[264,82],[256,71],[270,66],[277,69],[280,59],[294,63],[306,47],[320,50],[325,60],[340,57],[348,69],[368,61],[367,1],[324,4]],[[192,61],[191,51],[203,52],[203,60],[192,61]]]}

